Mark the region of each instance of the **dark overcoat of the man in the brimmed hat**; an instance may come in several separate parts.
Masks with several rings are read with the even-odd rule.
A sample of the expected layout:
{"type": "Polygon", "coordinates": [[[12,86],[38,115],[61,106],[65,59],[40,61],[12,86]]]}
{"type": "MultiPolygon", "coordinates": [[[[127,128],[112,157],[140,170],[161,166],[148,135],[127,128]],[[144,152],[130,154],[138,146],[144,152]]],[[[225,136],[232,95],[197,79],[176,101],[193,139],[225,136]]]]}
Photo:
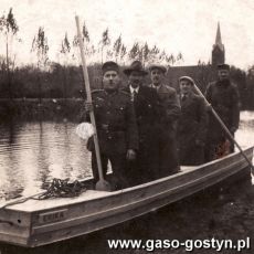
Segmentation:
{"type": "MultiPolygon", "coordinates": [[[[124,88],[130,94],[129,86],[124,88]]],[[[156,91],[148,86],[139,86],[134,99],[139,134],[139,150],[136,165],[131,166],[133,182],[146,182],[157,178],[158,170],[158,126],[162,107],[156,91]]]]}

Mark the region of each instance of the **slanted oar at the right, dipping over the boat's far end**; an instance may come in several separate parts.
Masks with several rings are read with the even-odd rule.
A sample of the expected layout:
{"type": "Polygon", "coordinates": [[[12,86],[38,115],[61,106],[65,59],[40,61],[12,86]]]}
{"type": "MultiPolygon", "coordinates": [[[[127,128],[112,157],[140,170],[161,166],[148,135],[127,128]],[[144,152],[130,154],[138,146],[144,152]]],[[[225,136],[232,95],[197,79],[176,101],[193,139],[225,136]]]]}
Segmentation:
{"type": "Polygon", "coordinates": [[[208,102],[208,99],[204,97],[204,95],[202,94],[202,92],[199,89],[199,87],[193,83],[193,87],[197,91],[197,93],[203,97],[204,103],[207,104],[207,106],[209,106],[211,108],[211,113],[212,115],[216,118],[216,120],[219,121],[219,124],[221,125],[221,127],[223,128],[223,130],[227,134],[227,136],[230,137],[230,139],[235,144],[235,146],[239,148],[240,152],[242,154],[242,156],[244,157],[244,159],[247,161],[248,166],[251,167],[252,170],[252,174],[254,174],[254,168],[252,162],[250,161],[250,159],[246,157],[246,155],[244,154],[244,151],[242,150],[242,148],[240,147],[240,145],[237,144],[237,141],[234,139],[233,135],[230,133],[230,130],[227,129],[227,127],[225,126],[225,124],[222,121],[222,119],[220,118],[220,116],[216,114],[216,112],[213,109],[213,107],[211,106],[211,104],[208,102]]]}

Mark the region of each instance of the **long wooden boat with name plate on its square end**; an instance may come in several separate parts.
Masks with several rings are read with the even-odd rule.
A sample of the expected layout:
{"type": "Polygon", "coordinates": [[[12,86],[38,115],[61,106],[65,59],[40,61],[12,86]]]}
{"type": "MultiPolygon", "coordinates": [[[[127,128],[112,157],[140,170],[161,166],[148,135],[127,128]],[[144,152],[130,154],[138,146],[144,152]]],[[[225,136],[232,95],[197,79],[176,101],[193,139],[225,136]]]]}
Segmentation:
{"type": "MultiPolygon", "coordinates": [[[[253,147],[244,149],[250,160],[253,147]]],[[[87,190],[76,198],[29,199],[0,209],[0,241],[40,246],[121,223],[189,197],[226,179],[251,178],[235,152],[152,182],[114,192],[87,190]]]]}

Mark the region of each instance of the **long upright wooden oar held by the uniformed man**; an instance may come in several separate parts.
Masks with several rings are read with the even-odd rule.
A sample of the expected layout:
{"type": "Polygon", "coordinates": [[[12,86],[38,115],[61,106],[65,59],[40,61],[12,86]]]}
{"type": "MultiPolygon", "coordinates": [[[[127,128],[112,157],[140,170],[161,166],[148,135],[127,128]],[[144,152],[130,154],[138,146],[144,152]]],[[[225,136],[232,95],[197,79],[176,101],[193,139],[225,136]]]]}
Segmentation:
{"type": "MultiPolygon", "coordinates": [[[[81,35],[80,19],[77,15],[75,17],[75,19],[76,19],[77,38],[78,38],[78,44],[80,44],[81,57],[82,57],[82,68],[83,68],[83,75],[84,75],[84,80],[85,80],[85,89],[86,89],[87,103],[92,104],[89,78],[88,78],[88,72],[87,72],[85,54],[84,54],[84,44],[83,44],[83,40],[82,40],[82,35],[81,35]]],[[[109,191],[110,184],[104,179],[104,176],[103,176],[102,160],[100,160],[99,146],[98,146],[98,137],[97,137],[96,124],[95,124],[95,117],[94,117],[94,110],[93,109],[89,112],[89,117],[91,117],[91,123],[94,127],[95,155],[96,155],[97,169],[98,169],[98,176],[99,176],[99,180],[96,183],[95,188],[96,188],[96,190],[100,190],[100,191],[109,191]]]]}

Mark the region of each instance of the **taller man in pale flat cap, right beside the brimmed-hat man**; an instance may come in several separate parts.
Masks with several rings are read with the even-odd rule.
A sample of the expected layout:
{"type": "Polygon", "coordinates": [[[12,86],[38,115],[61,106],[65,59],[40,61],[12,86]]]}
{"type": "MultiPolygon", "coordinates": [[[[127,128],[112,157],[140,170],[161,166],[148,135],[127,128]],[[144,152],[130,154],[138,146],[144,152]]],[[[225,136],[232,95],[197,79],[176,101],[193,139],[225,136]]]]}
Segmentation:
{"type": "Polygon", "coordinates": [[[150,65],[149,71],[151,77],[150,87],[157,91],[165,114],[160,120],[161,131],[159,131],[158,176],[166,177],[179,171],[176,129],[181,107],[176,89],[163,83],[167,68],[159,64],[152,64],[150,65]]]}

